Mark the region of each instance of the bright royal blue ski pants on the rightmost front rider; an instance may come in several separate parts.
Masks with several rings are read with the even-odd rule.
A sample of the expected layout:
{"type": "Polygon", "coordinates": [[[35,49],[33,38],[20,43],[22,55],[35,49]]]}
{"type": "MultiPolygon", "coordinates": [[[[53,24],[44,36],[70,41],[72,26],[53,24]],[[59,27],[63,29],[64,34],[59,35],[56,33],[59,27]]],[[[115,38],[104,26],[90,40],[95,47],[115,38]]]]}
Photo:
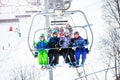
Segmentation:
{"type": "Polygon", "coordinates": [[[81,64],[84,64],[85,59],[86,59],[86,48],[76,48],[75,51],[75,56],[76,56],[76,61],[79,62],[80,60],[80,55],[82,55],[82,62],[81,64]]]}

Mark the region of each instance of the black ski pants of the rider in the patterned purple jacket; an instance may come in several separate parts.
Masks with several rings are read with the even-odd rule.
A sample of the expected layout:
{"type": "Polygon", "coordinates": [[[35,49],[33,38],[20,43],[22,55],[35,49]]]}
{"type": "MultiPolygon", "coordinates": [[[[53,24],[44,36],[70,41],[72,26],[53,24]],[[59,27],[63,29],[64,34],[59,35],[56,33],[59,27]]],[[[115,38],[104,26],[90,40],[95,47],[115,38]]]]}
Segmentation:
{"type": "Polygon", "coordinates": [[[75,62],[75,57],[74,57],[75,53],[74,50],[72,50],[71,48],[61,49],[61,53],[63,55],[65,63],[75,62]]]}

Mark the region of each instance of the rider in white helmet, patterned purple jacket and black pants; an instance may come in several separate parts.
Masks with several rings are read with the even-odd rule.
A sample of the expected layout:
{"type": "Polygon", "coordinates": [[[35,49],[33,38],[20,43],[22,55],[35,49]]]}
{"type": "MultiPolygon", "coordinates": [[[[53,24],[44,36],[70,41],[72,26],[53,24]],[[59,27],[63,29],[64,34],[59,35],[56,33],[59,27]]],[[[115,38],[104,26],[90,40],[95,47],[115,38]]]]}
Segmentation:
{"type": "Polygon", "coordinates": [[[70,67],[75,66],[74,51],[72,48],[68,48],[71,47],[71,36],[69,30],[65,30],[64,37],[60,38],[60,46],[62,47],[61,53],[63,54],[65,63],[69,63],[70,67]]]}

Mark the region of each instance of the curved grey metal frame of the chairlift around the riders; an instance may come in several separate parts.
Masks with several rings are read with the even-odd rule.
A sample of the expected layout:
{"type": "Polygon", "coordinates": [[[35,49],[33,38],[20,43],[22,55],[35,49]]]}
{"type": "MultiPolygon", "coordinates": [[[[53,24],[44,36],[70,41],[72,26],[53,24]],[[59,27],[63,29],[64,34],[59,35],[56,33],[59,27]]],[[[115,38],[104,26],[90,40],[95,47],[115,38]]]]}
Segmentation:
{"type": "MultiPolygon", "coordinates": [[[[82,11],[80,11],[80,10],[73,10],[73,11],[65,11],[65,12],[63,12],[63,16],[66,16],[66,15],[75,15],[76,13],[79,13],[80,15],[82,14],[83,15],[83,17],[84,17],[84,19],[85,19],[85,21],[86,21],[86,25],[83,25],[83,26],[81,26],[81,25],[79,25],[79,26],[76,26],[76,25],[74,25],[74,26],[72,26],[72,28],[76,28],[76,27],[79,27],[79,28],[81,28],[81,29],[84,29],[84,31],[85,31],[85,33],[86,33],[86,39],[85,39],[85,41],[86,41],[86,43],[88,44],[88,48],[86,48],[87,49],[87,51],[89,52],[90,50],[91,50],[91,48],[92,48],[92,45],[93,45],[93,32],[92,32],[92,29],[91,29],[91,24],[89,24],[89,22],[88,22],[88,20],[87,20],[87,17],[86,17],[86,15],[84,14],[84,12],[82,12],[82,11]],[[91,35],[91,41],[89,41],[89,35],[88,35],[88,32],[87,32],[87,29],[89,29],[89,31],[90,31],[90,34],[89,35],[91,35]]],[[[34,22],[34,19],[35,19],[35,17],[37,17],[38,15],[42,15],[42,16],[48,16],[49,18],[53,18],[53,17],[57,17],[57,15],[55,14],[55,13],[38,13],[38,14],[36,14],[36,15],[34,15],[33,16],[33,19],[32,19],[32,22],[31,22],[31,26],[30,26],[30,29],[29,29],[29,33],[28,33],[28,46],[29,46],[29,49],[30,49],[30,51],[31,51],[31,53],[33,54],[33,55],[35,55],[35,53],[34,53],[34,51],[33,51],[33,48],[32,48],[32,46],[31,46],[31,44],[30,44],[30,34],[31,34],[31,31],[32,31],[32,26],[33,26],[33,22],[34,22]]],[[[60,26],[60,25],[66,25],[66,23],[68,23],[68,20],[52,20],[52,21],[49,21],[49,22],[51,22],[51,24],[50,24],[50,26],[53,26],[53,25],[56,25],[56,26],[60,26]]],[[[41,31],[41,30],[49,30],[49,29],[53,29],[53,28],[42,28],[42,29],[38,29],[38,30],[36,30],[35,31],[35,33],[34,33],[34,38],[35,38],[35,34],[38,32],[38,31],[41,31]]],[[[33,40],[35,40],[35,39],[33,39],[33,40]]]]}

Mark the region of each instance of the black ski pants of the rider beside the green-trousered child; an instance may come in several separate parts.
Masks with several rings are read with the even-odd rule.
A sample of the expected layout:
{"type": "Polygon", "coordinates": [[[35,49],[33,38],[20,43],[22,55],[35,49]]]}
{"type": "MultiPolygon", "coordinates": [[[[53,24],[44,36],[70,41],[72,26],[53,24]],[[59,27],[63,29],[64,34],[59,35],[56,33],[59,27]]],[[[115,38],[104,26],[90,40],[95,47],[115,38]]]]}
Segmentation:
{"type": "Polygon", "coordinates": [[[59,52],[58,50],[49,50],[49,64],[58,64],[59,61],[59,52]]]}

